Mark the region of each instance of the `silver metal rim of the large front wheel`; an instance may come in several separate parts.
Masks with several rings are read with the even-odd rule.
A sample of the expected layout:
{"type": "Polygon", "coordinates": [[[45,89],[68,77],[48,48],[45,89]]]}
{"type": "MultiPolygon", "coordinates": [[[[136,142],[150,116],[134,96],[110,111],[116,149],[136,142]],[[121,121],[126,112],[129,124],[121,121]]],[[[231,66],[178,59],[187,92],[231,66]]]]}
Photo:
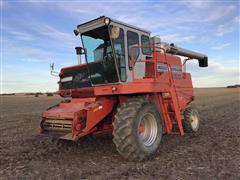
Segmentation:
{"type": "Polygon", "coordinates": [[[147,113],[142,117],[138,126],[138,134],[145,146],[151,146],[155,142],[157,138],[157,122],[152,114],[147,113]]]}

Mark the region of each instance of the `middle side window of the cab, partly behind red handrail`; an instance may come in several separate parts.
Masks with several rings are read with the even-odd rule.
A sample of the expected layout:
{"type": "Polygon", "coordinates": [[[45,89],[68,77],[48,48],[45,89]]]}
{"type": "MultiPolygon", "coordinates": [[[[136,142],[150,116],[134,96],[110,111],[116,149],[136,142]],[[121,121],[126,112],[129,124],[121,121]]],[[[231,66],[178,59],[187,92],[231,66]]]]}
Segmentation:
{"type": "Polygon", "coordinates": [[[133,48],[135,46],[139,46],[139,36],[137,33],[132,31],[127,32],[127,46],[128,46],[128,65],[131,68],[132,63],[130,62],[130,60],[132,58],[134,58],[134,60],[137,60],[139,56],[139,48],[133,48]]]}

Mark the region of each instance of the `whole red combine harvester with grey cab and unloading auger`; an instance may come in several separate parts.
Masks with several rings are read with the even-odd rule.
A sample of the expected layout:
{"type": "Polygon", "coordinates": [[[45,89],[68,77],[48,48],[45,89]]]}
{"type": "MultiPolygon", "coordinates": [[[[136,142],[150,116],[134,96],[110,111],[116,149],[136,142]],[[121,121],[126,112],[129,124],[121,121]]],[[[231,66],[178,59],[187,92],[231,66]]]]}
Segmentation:
{"type": "Polygon", "coordinates": [[[76,47],[79,64],[62,68],[58,82],[59,95],[70,99],[43,112],[40,134],[77,141],[112,132],[117,151],[140,161],[155,154],[163,134],[199,129],[185,63],[197,59],[207,67],[206,55],[105,16],[74,33],[83,44],[76,47]]]}

